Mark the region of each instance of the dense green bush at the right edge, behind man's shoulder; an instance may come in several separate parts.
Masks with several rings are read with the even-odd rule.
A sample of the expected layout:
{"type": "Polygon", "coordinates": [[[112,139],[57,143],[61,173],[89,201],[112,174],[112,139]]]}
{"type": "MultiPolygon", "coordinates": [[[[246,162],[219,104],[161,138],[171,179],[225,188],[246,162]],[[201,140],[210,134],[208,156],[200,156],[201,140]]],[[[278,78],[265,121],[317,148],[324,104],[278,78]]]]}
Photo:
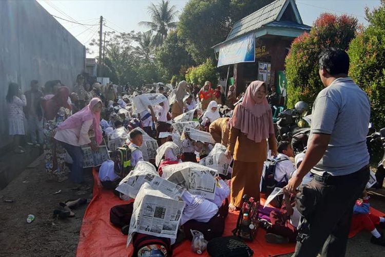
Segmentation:
{"type": "Polygon", "coordinates": [[[368,94],[375,126],[385,126],[385,1],[372,12],[367,8],[369,26],[361,29],[349,49],[349,75],[368,94]]]}

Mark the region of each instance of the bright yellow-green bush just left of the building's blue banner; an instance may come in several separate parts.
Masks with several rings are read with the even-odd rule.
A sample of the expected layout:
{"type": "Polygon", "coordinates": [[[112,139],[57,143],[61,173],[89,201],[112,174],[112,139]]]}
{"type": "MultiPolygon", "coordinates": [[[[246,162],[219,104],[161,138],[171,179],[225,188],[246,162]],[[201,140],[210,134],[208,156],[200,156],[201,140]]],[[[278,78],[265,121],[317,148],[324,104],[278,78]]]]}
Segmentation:
{"type": "Polygon", "coordinates": [[[207,59],[205,63],[190,67],[186,71],[186,80],[190,83],[197,83],[203,86],[206,80],[210,81],[213,85],[218,83],[218,76],[216,67],[213,65],[211,59],[207,59]]]}

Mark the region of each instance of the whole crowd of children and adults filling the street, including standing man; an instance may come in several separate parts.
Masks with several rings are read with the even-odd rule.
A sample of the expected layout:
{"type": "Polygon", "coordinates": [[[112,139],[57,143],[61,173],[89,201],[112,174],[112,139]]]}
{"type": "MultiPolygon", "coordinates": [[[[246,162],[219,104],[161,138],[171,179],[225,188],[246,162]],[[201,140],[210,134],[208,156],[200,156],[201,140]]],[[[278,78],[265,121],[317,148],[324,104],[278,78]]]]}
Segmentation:
{"type": "MultiPolygon", "coordinates": [[[[296,156],[290,142],[276,140],[272,104],[278,104],[279,96],[274,86],[268,87],[262,81],[251,82],[238,97],[234,85],[229,86],[226,95],[221,85],[213,89],[209,81],[202,88],[181,81],[175,88],[160,82],[139,90],[113,83],[103,86],[95,82],[91,86],[79,75],[73,93],[59,80],[48,81],[42,90],[38,81],[32,80],[31,89],[25,94],[19,85],[10,83],[9,134],[14,136],[15,153],[23,153],[20,142],[25,135],[25,115],[30,143],[43,145],[49,178],[63,181],[69,175],[76,186],[84,189],[88,185],[84,184],[81,146],[89,145],[92,151],[97,151],[103,138],[108,140],[117,130],[126,130],[129,140],[125,144],[131,151],[130,165],[134,167],[143,160],[140,147],[144,134],[156,139],[161,149],[165,142],[181,140],[172,137],[171,124],[193,112],[190,120],[199,122],[196,128],[210,133],[216,143],[225,146],[225,156],[234,158],[234,162],[231,177],[227,177],[230,187],[223,181],[218,184],[224,190],[218,196],[218,203],[211,206],[200,201],[205,206],[202,212],[190,217],[197,220],[202,217],[203,222],[208,222],[228,195],[226,208],[230,211],[242,207],[245,194],[260,199],[264,162],[271,151],[279,160],[274,179],[276,186],[283,188],[284,197],[260,220],[261,227],[267,231],[266,241],[297,241],[294,256],[316,256],[321,250],[322,256],[343,256],[353,215],[356,223],[369,217],[372,223],[366,227],[373,234],[371,242],[385,246],[383,235],[373,225],[382,226],[384,218],[370,216],[369,211],[360,218],[353,214],[356,200],[369,179],[369,154],[365,145],[369,99],[347,76],[349,57],[344,51],[334,48],[324,51],[319,67],[325,89],[314,103],[307,150],[296,156]],[[268,91],[271,91],[269,101],[268,91]],[[163,100],[151,105],[140,97],[143,94],[161,95],[163,100]],[[142,130],[136,130],[137,127],[142,130]],[[72,159],[70,172],[67,154],[72,159]]],[[[214,146],[188,136],[179,145],[177,141],[175,145],[165,144],[167,147],[163,146],[160,156],[162,161],[153,162],[160,172],[169,164],[198,162],[214,146]]],[[[111,152],[111,160],[114,156],[111,152]]],[[[119,181],[121,178],[114,171],[112,161],[103,163],[102,182],[119,181]]],[[[195,197],[188,194],[183,200],[188,206],[195,197]]],[[[365,197],[363,203],[366,204],[365,197]]]]}

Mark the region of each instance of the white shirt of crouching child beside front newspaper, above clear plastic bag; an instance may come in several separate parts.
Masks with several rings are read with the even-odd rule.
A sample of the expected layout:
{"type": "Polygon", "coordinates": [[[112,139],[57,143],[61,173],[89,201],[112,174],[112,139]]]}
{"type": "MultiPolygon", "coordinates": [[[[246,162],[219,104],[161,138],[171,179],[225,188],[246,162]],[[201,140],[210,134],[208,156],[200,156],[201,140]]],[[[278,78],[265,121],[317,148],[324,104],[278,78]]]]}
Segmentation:
{"type": "Polygon", "coordinates": [[[218,213],[217,205],[204,199],[203,196],[193,195],[185,191],[182,199],[185,201],[186,207],[181,216],[181,225],[190,219],[195,219],[197,222],[208,222],[218,213]]]}

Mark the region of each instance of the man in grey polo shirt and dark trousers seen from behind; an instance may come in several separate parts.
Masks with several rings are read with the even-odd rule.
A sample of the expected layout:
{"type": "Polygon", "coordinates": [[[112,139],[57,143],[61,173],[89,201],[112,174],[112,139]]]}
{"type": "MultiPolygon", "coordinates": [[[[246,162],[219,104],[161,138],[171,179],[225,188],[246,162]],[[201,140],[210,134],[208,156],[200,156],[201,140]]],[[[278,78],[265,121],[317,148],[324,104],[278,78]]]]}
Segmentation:
{"type": "Polygon", "coordinates": [[[345,51],[329,48],[320,54],[325,88],[313,105],[306,155],[287,185],[295,192],[308,172],[314,174],[297,193],[302,217],[293,256],[317,256],[321,250],[321,256],[344,256],[353,206],[369,180],[370,101],[348,71],[345,51]]]}

